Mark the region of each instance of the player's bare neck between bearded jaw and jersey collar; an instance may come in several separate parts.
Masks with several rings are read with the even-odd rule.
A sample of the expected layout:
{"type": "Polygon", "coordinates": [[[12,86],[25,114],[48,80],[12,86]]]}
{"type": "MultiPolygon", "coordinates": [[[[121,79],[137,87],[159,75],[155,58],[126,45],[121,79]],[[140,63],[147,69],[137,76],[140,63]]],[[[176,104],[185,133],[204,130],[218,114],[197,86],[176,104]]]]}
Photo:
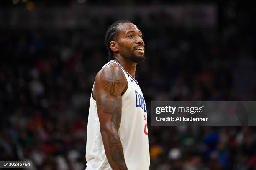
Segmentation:
{"type": "Polygon", "coordinates": [[[131,60],[121,56],[115,56],[114,60],[118,62],[125,69],[125,71],[127,71],[135,79],[137,63],[134,63],[131,60]]]}

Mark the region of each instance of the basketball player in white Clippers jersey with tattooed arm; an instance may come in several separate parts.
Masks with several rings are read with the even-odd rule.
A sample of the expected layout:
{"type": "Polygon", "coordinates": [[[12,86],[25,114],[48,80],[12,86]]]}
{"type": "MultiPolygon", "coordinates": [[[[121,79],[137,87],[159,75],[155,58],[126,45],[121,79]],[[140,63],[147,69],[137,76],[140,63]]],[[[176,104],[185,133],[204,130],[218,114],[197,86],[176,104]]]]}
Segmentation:
{"type": "Polygon", "coordinates": [[[107,30],[109,62],[95,77],[87,127],[86,170],[148,170],[147,110],[136,65],[144,60],[142,32],[129,21],[107,30]]]}

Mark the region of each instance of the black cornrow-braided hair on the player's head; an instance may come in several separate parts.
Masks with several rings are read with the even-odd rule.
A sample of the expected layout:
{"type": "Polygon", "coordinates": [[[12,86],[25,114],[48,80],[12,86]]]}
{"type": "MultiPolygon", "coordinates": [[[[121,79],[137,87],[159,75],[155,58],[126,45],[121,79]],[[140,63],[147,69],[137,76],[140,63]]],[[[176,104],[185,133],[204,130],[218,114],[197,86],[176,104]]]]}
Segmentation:
{"type": "Polygon", "coordinates": [[[128,20],[119,20],[119,21],[116,21],[115,23],[113,23],[112,25],[109,26],[106,34],[105,34],[105,45],[107,47],[107,50],[108,50],[108,60],[113,60],[113,51],[111,50],[109,44],[110,44],[110,41],[114,41],[115,40],[115,36],[118,32],[118,26],[123,24],[123,23],[131,23],[130,21],[128,20]]]}

